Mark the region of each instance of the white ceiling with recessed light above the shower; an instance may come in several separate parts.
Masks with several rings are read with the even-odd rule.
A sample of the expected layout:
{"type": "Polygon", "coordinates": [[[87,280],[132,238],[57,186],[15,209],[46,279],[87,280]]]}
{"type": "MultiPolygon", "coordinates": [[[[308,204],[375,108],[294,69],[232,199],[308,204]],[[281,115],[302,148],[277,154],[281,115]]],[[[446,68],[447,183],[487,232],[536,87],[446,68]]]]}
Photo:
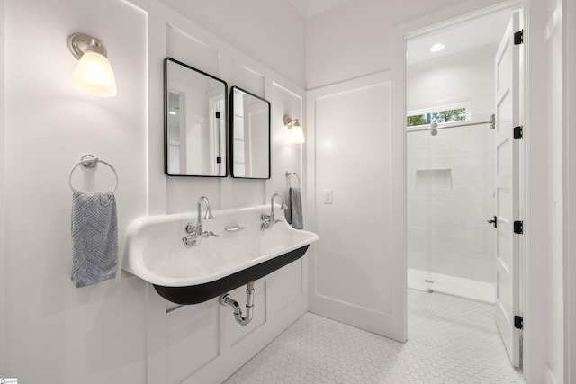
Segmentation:
{"type": "Polygon", "coordinates": [[[496,52],[510,19],[509,12],[491,13],[408,40],[407,64],[414,65],[476,49],[496,52]],[[436,43],[446,46],[431,52],[436,43]]]}

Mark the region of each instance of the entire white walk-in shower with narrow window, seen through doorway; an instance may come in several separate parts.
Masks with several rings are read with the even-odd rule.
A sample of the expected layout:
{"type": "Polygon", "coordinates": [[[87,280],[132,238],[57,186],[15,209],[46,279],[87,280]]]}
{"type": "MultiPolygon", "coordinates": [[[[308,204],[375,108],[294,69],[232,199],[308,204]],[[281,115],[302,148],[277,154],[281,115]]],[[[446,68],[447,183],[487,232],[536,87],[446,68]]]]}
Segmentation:
{"type": "Polygon", "coordinates": [[[441,39],[439,32],[408,43],[408,286],[494,302],[496,234],[488,221],[500,38],[435,56],[430,47],[441,39]]]}

